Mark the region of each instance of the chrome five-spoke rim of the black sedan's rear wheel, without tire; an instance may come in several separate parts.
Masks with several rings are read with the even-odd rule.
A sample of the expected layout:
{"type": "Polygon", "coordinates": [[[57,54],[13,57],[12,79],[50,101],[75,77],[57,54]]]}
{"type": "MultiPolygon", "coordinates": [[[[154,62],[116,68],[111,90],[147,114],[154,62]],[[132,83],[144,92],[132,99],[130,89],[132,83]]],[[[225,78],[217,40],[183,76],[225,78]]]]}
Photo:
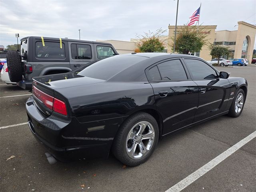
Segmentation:
{"type": "Polygon", "coordinates": [[[142,121],[132,127],[126,138],[126,153],[132,159],[141,159],[153,146],[154,127],[150,122],[142,121]]]}

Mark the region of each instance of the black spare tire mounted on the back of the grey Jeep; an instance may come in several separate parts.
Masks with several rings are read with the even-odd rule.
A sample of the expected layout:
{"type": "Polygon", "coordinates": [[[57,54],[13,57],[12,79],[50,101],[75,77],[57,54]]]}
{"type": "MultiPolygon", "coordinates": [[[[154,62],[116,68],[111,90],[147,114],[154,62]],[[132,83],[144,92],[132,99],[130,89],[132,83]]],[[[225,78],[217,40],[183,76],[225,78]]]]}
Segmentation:
{"type": "Polygon", "coordinates": [[[6,53],[6,62],[10,81],[19,82],[22,80],[22,64],[19,52],[8,51],[6,53]]]}

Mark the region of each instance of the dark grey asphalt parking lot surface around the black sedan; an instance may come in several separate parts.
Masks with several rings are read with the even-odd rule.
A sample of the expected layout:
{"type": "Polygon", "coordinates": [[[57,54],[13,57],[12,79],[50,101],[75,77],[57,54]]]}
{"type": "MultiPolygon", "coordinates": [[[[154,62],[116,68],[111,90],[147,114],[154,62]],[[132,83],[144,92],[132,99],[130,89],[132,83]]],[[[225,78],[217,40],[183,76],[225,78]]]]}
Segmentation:
{"type": "MultiPolygon", "coordinates": [[[[256,131],[256,67],[217,67],[248,80],[240,117],[221,116],[162,138],[144,164],[125,167],[108,159],[50,165],[46,150],[26,124],[30,92],[0,82],[0,191],[164,192],[256,131]],[[24,124],[22,124],[24,123],[24,124]],[[18,126],[12,126],[21,124],[18,126]],[[11,156],[12,159],[7,160],[11,156]]],[[[182,191],[256,190],[256,138],[247,142],[182,191]]]]}

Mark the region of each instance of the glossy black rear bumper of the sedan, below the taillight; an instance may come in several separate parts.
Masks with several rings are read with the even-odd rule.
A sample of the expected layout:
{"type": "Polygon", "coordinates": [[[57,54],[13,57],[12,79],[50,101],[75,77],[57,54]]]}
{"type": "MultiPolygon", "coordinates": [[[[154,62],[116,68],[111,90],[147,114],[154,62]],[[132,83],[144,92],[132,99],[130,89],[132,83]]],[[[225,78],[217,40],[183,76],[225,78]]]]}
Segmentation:
{"type": "Polygon", "coordinates": [[[106,138],[106,130],[88,132],[87,123],[81,124],[76,118],[46,116],[36,107],[32,96],[26,102],[26,111],[32,134],[56,159],[66,162],[108,157],[114,138],[106,138]]]}

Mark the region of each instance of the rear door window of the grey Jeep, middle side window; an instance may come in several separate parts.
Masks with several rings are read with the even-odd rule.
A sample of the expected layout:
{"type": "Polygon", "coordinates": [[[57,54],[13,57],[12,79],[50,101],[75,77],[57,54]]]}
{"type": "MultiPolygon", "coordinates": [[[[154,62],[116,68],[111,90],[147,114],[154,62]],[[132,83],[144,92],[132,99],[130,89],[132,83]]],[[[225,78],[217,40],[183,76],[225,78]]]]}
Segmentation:
{"type": "Polygon", "coordinates": [[[92,59],[92,51],[90,45],[71,44],[72,59],[92,59]]]}

